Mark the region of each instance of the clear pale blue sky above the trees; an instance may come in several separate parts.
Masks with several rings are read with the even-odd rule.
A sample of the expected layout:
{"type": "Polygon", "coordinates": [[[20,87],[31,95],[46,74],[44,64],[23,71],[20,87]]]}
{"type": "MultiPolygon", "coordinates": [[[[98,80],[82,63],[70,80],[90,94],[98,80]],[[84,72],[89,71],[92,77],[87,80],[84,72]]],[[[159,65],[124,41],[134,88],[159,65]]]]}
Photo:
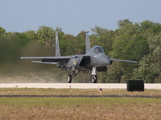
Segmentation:
{"type": "Polygon", "coordinates": [[[161,0],[0,0],[0,27],[7,32],[62,28],[76,36],[95,26],[116,30],[129,19],[161,23],[161,0]]]}

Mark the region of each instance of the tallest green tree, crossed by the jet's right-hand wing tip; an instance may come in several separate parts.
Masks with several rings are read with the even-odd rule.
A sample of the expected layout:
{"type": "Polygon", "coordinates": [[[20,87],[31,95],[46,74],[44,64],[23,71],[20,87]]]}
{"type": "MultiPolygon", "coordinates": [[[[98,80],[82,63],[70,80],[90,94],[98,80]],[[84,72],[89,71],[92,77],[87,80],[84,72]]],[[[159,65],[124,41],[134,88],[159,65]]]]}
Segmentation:
{"type": "MultiPolygon", "coordinates": [[[[144,55],[149,53],[148,41],[139,32],[138,24],[132,24],[130,21],[119,21],[120,29],[115,31],[115,41],[112,45],[110,55],[112,58],[127,59],[139,61],[144,55]]],[[[126,82],[132,77],[133,69],[138,67],[137,64],[120,62],[119,74],[115,75],[121,82],[126,82]]],[[[117,70],[118,71],[118,70],[117,70]]],[[[115,77],[116,78],[116,77],[115,77]]]]}

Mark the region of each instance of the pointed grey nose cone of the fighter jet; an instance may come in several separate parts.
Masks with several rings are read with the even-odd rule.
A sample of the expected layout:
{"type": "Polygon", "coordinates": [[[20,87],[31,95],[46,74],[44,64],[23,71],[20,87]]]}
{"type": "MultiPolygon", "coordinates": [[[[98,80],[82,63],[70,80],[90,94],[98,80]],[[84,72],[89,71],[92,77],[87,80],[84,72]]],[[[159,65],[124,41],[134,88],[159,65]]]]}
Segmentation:
{"type": "Polygon", "coordinates": [[[97,60],[98,66],[107,66],[110,65],[110,60],[106,55],[101,55],[97,60]]]}

